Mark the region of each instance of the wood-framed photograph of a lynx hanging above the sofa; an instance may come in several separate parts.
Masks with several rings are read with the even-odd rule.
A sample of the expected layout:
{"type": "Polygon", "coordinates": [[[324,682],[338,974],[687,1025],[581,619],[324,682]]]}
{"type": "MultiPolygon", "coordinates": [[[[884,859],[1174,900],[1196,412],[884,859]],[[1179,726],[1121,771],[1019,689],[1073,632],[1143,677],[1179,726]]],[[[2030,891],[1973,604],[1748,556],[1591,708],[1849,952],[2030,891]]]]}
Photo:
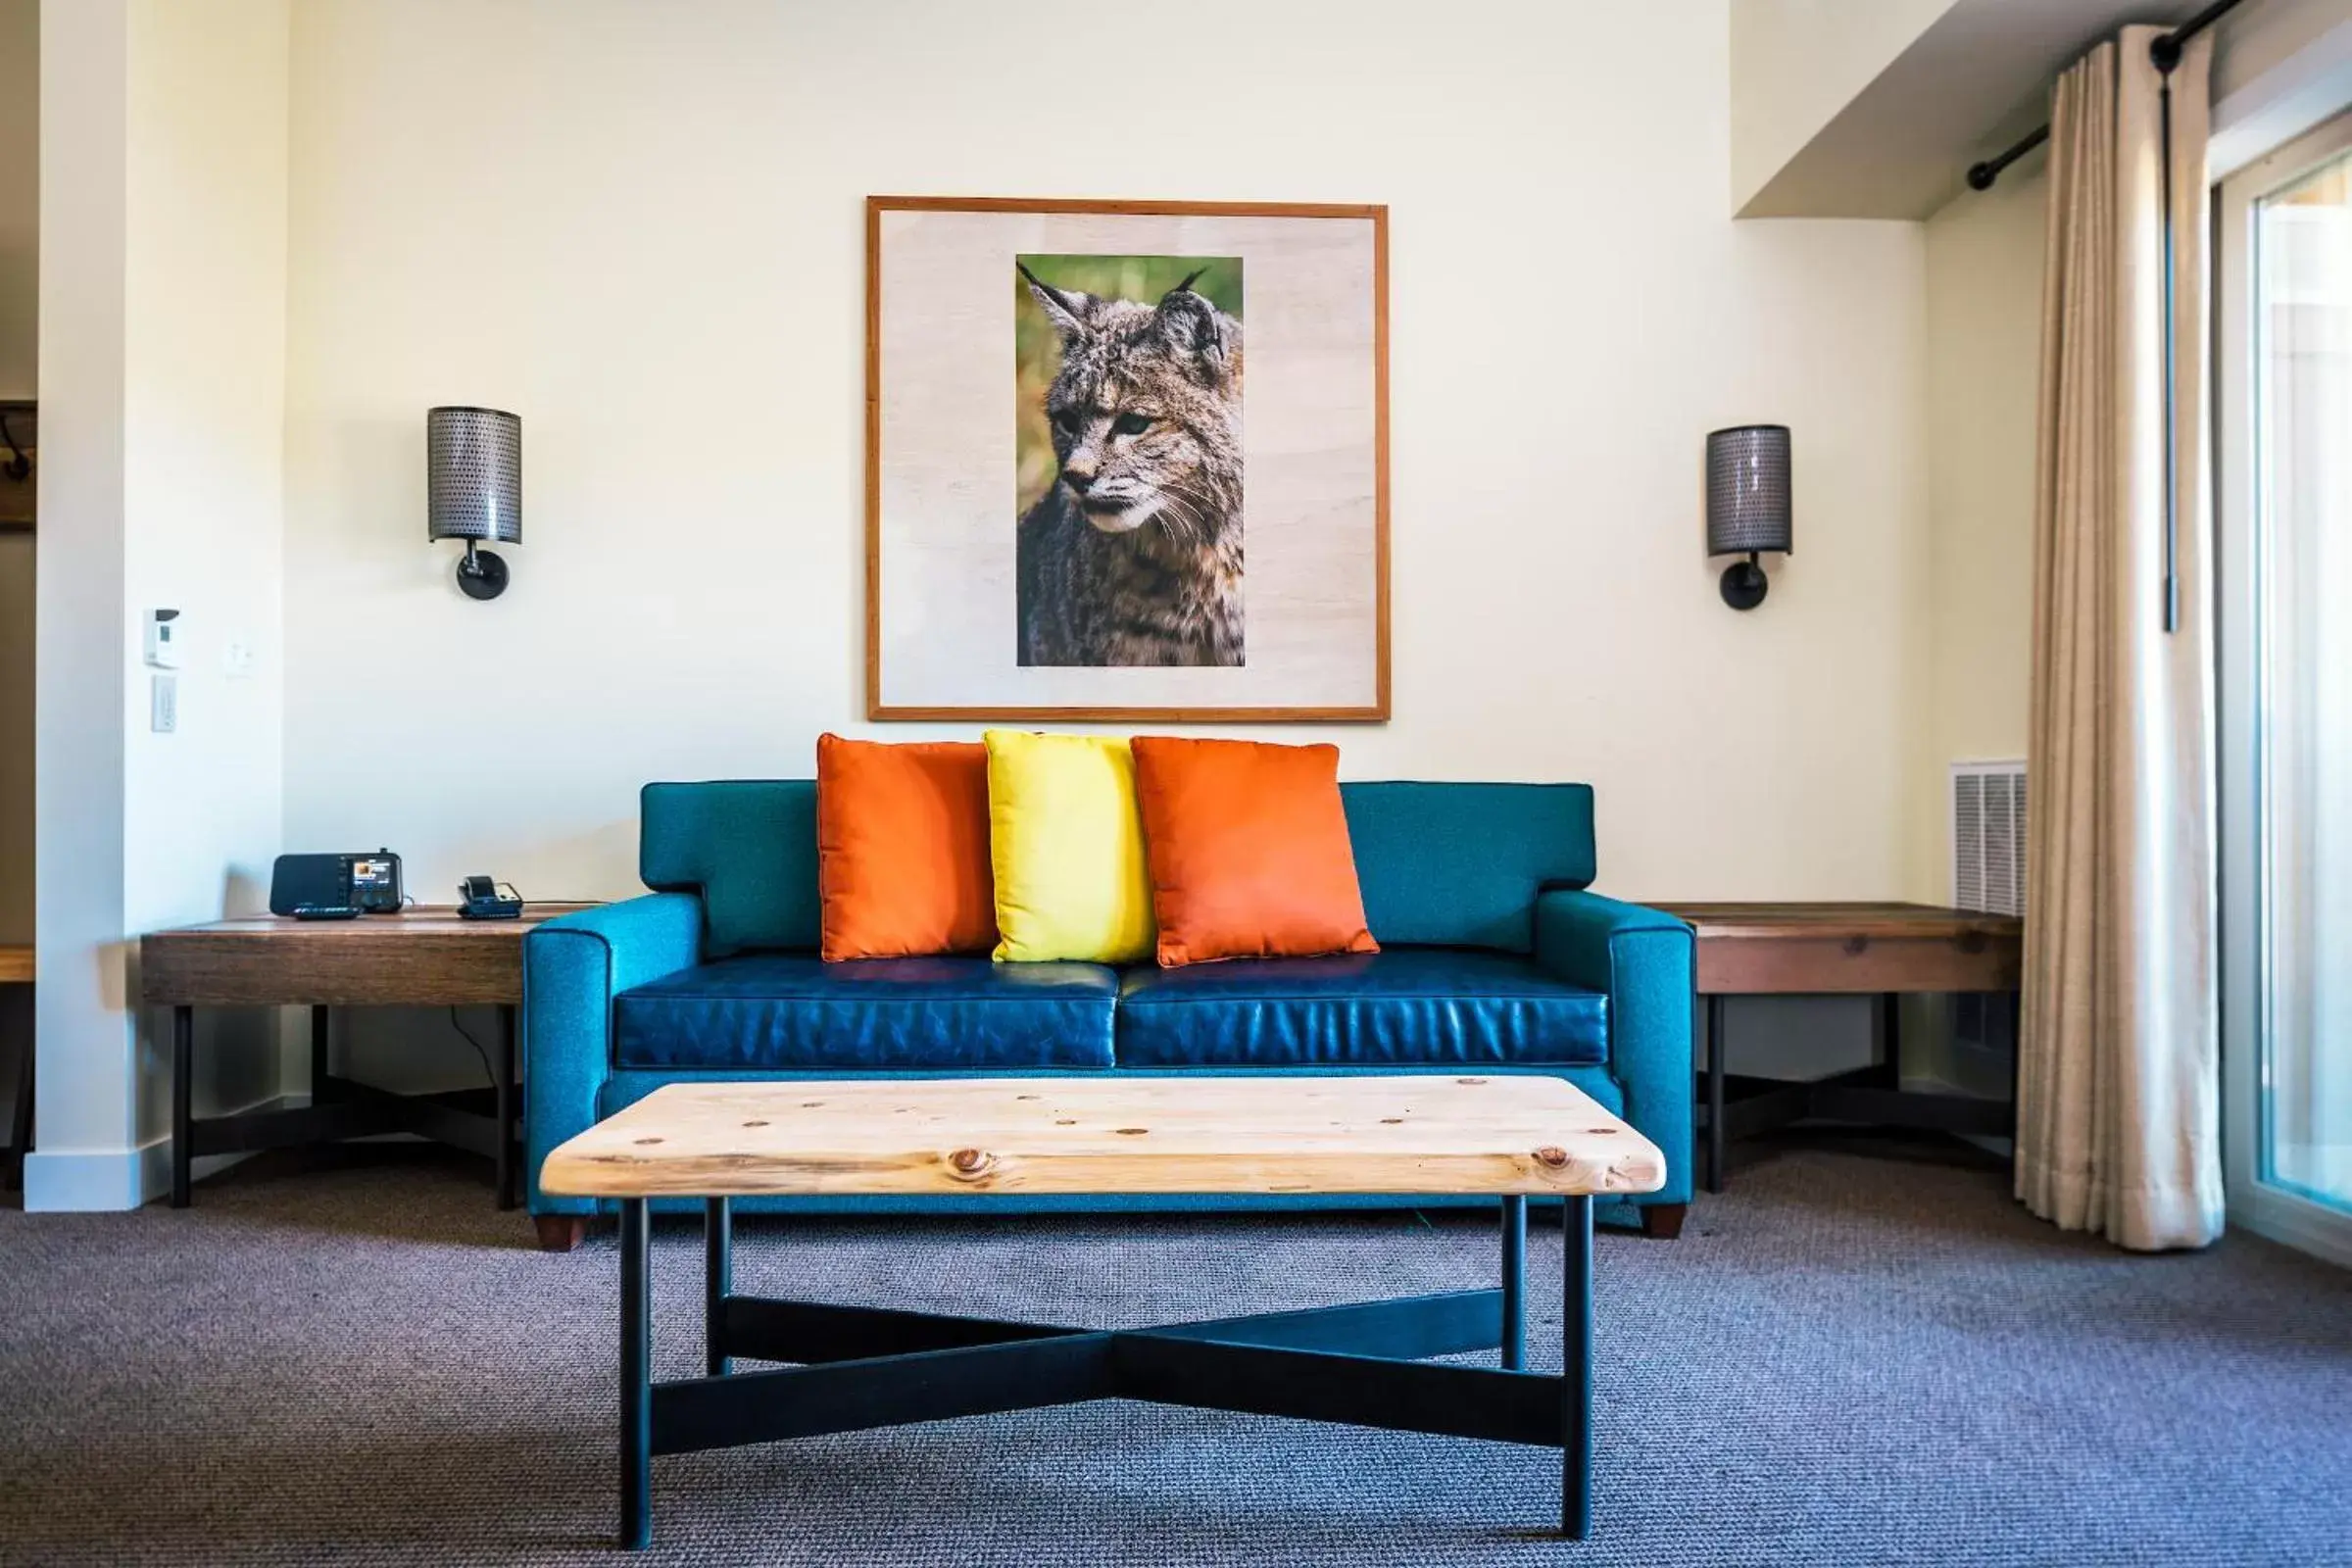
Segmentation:
{"type": "Polygon", "coordinates": [[[873,719],[1388,719],[1388,209],[866,200],[873,719]]]}

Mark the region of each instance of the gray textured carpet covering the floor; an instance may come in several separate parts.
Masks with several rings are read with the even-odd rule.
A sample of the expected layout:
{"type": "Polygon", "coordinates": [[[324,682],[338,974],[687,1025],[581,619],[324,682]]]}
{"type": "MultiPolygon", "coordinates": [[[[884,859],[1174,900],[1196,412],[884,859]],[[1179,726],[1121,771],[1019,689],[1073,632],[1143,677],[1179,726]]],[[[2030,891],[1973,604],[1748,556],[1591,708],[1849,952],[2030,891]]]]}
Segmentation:
{"type": "MultiPolygon", "coordinates": [[[[1446,1291],[1468,1218],[757,1222],[739,1288],[1082,1324],[1446,1291]]],[[[0,1561],[623,1561],[614,1244],[473,1161],[254,1161],[186,1213],[0,1213],[0,1561]]],[[[1559,1237],[1534,1241],[1557,1363],[1559,1237]]],[[[691,1227],[659,1375],[699,1371],[691,1227]]],[[[1597,1537],[1534,1448],[1098,1403],[656,1460],[710,1563],[2352,1563],[2352,1276],[2126,1258],[1983,1168],[1788,1152],[1599,1241],[1597,1537]]]]}

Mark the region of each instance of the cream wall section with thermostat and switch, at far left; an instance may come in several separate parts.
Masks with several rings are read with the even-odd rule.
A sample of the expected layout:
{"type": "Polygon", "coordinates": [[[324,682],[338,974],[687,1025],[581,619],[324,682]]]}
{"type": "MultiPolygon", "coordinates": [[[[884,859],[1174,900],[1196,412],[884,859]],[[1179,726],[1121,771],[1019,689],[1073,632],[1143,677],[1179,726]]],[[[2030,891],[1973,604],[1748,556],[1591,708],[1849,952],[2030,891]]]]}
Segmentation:
{"type": "MultiPolygon", "coordinates": [[[[141,931],[259,905],[280,837],[287,0],[42,14],[40,1147],[28,1208],[160,1190],[169,1048],[141,931]],[[188,632],[148,733],[141,616],[188,632]],[[228,637],[256,670],[228,679],[228,637]]],[[[266,1013],[207,1016],[198,1110],[275,1095],[266,1013]]]]}

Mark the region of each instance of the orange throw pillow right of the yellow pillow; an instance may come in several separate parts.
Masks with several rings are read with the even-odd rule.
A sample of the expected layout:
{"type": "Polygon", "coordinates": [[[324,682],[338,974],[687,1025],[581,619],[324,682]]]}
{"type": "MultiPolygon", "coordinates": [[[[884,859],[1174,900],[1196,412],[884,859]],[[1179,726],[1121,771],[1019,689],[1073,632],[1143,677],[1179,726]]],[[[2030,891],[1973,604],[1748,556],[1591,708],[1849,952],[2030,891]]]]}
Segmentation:
{"type": "Polygon", "coordinates": [[[1378,952],[1336,745],[1136,736],[1160,964],[1378,952]]]}

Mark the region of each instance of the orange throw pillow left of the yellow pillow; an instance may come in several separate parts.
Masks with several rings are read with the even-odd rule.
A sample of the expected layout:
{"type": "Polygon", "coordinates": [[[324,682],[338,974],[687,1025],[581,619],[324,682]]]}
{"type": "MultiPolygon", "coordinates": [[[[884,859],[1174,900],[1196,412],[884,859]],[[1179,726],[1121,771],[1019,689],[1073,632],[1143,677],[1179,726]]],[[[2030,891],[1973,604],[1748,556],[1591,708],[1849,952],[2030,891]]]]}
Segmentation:
{"type": "Polygon", "coordinates": [[[988,748],[816,738],[818,952],[988,952],[988,748]]]}

